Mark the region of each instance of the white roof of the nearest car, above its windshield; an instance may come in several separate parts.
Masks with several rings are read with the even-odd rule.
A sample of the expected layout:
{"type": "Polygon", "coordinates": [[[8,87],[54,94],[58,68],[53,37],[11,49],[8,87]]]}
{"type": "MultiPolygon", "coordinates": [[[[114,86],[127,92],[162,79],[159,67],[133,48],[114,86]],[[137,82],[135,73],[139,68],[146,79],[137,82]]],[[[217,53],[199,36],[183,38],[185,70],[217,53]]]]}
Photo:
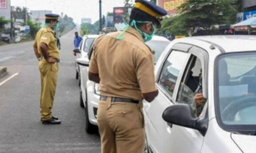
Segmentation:
{"type": "Polygon", "coordinates": [[[221,35],[221,36],[198,36],[181,38],[185,41],[196,39],[218,45],[225,52],[256,51],[256,36],[251,35],[221,35]]]}

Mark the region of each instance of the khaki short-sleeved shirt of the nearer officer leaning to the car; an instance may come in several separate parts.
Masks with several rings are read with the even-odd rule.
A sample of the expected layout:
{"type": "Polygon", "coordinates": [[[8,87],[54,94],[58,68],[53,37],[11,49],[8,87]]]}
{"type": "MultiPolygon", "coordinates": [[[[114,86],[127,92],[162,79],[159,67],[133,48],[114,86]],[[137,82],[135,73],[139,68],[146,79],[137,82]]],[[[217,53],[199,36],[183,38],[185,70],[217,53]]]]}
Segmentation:
{"type": "Polygon", "coordinates": [[[98,38],[89,64],[89,72],[99,73],[100,94],[109,97],[142,100],[142,93],[157,90],[154,55],[142,36],[129,28],[98,38]]]}

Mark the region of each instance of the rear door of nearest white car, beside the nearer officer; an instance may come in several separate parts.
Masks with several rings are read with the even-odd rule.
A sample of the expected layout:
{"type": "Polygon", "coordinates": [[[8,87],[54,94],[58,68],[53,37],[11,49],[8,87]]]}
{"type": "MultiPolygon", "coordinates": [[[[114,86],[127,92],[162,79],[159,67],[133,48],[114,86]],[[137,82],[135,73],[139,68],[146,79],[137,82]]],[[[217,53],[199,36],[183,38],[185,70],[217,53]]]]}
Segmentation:
{"type": "Polygon", "coordinates": [[[144,102],[145,128],[148,144],[152,152],[165,153],[171,142],[166,141],[173,132],[172,128],[162,119],[164,110],[174,105],[175,88],[181,80],[181,74],[190,57],[188,52],[171,50],[163,61],[157,80],[159,95],[151,102],[144,102]]]}

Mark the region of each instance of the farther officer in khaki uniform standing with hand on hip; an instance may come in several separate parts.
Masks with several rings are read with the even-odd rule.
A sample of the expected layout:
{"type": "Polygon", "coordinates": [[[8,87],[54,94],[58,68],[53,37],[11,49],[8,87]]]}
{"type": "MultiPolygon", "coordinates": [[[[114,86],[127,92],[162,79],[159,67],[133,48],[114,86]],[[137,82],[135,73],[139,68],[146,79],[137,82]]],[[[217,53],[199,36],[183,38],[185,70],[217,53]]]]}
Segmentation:
{"type": "Polygon", "coordinates": [[[46,14],[46,26],[38,31],[34,42],[34,52],[39,60],[41,74],[40,113],[43,124],[60,124],[58,117],[52,116],[54,95],[58,77],[59,49],[54,30],[58,24],[59,15],[46,14]]]}

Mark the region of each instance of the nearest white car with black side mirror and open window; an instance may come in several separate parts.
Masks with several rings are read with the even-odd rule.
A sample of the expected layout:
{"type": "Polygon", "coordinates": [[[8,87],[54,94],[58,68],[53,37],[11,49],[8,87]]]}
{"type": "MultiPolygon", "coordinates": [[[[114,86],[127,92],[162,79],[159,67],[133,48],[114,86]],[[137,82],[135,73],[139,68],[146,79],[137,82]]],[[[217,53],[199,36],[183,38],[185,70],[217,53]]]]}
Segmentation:
{"type": "Polygon", "coordinates": [[[143,102],[145,153],[256,152],[255,36],[175,39],[155,75],[159,95],[143,102]]]}

